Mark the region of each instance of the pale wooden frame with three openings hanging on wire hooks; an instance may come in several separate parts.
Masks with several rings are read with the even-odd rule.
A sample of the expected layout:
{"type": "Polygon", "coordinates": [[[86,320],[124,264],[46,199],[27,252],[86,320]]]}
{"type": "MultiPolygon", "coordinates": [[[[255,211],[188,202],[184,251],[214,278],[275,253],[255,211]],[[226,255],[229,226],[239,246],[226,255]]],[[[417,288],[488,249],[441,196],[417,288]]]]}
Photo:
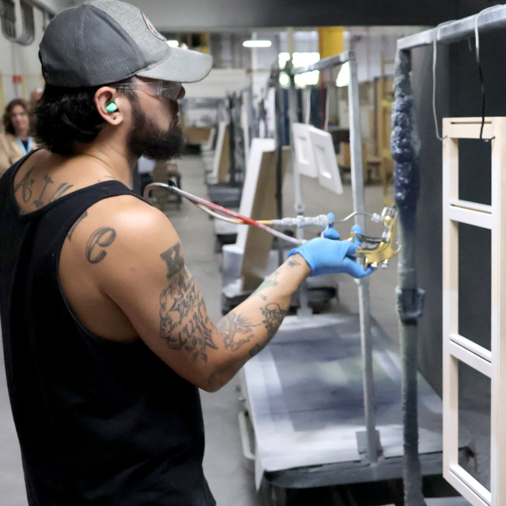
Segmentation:
{"type": "Polygon", "coordinates": [[[485,118],[491,205],[460,200],[458,139],[479,139],[481,118],[443,119],[443,476],[474,506],[506,504],[506,117],[485,118]],[[491,231],[491,349],[458,333],[458,224],[491,231]],[[490,490],[458,465],[458,362],[491,380],[490,490]]]}

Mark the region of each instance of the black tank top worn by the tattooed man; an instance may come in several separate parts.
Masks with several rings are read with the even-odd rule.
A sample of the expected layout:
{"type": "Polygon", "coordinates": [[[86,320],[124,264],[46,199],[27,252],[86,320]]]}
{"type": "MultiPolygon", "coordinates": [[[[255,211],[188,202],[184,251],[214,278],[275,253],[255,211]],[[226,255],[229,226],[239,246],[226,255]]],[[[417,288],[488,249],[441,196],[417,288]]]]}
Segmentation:
{"type": "Polygon", "coordinates": [[[100,338],[59,285],[60,252],[117,181],[20,214],[0,179],[0,315],[7,383],[30,506],[209,506],[198,389],[138,340],[100,338]]]}

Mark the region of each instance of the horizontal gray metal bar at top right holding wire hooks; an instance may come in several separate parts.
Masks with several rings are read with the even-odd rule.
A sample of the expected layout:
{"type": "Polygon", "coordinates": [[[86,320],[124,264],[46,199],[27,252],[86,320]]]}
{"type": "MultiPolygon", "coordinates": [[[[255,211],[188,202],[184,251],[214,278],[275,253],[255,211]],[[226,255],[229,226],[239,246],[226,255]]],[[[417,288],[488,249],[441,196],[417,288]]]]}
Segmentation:
{"type": "Polygon", "coordinates": [[[408,35],[397,40],[397,50],[413,49],[420,46],[428,46],[437,42],[450,44],[474,35],[476,18],[480,32],[502,28],[506,26],[506,5],[498,5],[496,9],[487,10],[483,14],[477,13],[457,21],[441,23],[436,28],[431,28],[414,35],[408,35]]]}

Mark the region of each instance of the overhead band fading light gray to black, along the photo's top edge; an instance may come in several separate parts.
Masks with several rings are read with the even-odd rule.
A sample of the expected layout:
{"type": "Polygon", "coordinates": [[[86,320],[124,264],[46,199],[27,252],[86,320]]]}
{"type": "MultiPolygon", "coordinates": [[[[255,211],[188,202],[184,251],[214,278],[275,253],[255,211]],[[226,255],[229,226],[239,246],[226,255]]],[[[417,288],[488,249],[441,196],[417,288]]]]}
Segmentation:
{"type": "Polygon", "coordinates": [[[494,0],[130,0],[161,31],[286,26],[437,25],[494,0]]]}

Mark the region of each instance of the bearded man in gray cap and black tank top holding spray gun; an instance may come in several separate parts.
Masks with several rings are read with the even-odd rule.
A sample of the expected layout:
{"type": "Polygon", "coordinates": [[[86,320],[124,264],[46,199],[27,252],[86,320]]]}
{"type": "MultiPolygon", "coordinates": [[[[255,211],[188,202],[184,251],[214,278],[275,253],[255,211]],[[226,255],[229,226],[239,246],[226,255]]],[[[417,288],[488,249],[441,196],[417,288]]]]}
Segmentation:
{"type": "Polygon", "coordinates": [[[140,156],[177,154],[181,82],[210,57],[168,47],[116,0],[56,16],[39,55],[47,149],[0,180],[0,314],[28,502],[215,504],[198,387],[219,389],[267,345],[306,276],[369,271],[354,244],[313,239],[215,325],[171,223],[129,189],[140,156]]]}

